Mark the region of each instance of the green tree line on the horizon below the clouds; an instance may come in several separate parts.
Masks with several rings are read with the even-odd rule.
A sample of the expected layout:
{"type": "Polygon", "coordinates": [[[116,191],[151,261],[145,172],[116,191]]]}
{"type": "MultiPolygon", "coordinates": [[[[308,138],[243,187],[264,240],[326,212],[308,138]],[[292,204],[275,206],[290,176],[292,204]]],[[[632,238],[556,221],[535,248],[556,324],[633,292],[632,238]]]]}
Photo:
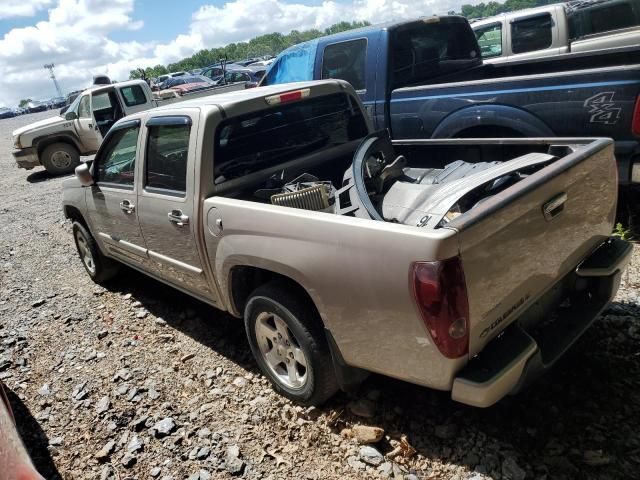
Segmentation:
{"type": "MultiPolygon", "coordinates": [[[[146,77],[154,78],[169,72],[189,71],[196,68],[206,67],[218,62],[220,59],[242,60],[245,58],[256,58],[263,56],[277,55],[285,48],[300,42],[313,40],[314,38],[344,32],[354,28],[366,27],[369,22],[340,22],[325,28],[324,30],[292,30],[286,35],[282,33],[267,33],[259,37],[252,38],[248,42],[230,43],[224,47],[209,48],[200,50],[190,57],[183,58],[179,62],[169,65],[156,65],[144,69],[146,77]]],[[[141,78],[141,69],[131,70],[129,78],[141,78]]]]}

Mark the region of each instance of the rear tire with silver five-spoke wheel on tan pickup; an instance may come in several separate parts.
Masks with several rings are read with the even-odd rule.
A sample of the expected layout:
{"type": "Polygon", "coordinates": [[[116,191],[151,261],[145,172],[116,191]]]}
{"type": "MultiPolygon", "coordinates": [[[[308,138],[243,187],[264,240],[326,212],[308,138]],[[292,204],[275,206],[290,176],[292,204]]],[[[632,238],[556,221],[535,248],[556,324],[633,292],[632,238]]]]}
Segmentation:
{"type": "Polygon", "coordinates": [[[331,353],[314,305],[286,284],[271,282],[250,295],[244,324],[253,356],[279,394],[320,405],[336,393],[331,353]]]}

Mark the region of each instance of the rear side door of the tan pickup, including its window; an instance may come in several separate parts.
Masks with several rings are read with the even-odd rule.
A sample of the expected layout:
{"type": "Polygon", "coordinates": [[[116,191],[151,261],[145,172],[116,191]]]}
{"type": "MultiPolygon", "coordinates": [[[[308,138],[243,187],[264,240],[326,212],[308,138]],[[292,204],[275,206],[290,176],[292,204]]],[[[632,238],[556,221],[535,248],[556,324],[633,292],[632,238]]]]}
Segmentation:
{"type": "Polygon", "coordinates": [[[138,216],[149,262],[167,282],[215,302],[196,242],[198,117],[163,113],[146,123],[142,189],[138,195],[138,216]]]}

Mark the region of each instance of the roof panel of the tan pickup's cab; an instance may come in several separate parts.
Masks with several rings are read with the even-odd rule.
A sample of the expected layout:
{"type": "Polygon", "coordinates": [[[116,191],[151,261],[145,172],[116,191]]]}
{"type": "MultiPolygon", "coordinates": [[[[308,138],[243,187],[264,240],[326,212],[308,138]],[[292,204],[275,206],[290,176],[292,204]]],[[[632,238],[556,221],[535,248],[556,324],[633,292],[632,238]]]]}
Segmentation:
{"type": "Polygon", "coordinates": [[[264,98],[269,95],[277,95],[279,93],[289,92],[292,90],[313,88],[321,85],[335,85],[335,90],[341,91],[348,84],[340,80],[314,80],[310,82],[282,83],[279,85],[269,85],[265,87],[248,88],[245,90],[235,90],[232,92],[218,93],[215,95],[208,95],[206,97],[194,98],[192,100],[170,103],[168,105],[162,105],[152,110],[148,110],[147,112],[156,113],[162,112],[164,110],[175,110],[176,108],[197,108],[207,105],[219,106],[223,109],[226,109],[234,104],[237,104],[238,102],[255,100],[257,98],[264,98]]]}

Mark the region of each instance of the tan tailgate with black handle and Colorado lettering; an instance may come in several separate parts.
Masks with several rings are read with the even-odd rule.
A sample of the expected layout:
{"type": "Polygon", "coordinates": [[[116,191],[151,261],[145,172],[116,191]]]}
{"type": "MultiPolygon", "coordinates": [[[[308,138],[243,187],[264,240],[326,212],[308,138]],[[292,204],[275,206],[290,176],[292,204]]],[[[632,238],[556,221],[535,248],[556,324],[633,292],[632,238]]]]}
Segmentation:
{"type": "Polygon", "coordinates": [[[596,139],[449,223],[459,233],[470,356],[610,236],[617,189],[613,142],[596,139]]]}

